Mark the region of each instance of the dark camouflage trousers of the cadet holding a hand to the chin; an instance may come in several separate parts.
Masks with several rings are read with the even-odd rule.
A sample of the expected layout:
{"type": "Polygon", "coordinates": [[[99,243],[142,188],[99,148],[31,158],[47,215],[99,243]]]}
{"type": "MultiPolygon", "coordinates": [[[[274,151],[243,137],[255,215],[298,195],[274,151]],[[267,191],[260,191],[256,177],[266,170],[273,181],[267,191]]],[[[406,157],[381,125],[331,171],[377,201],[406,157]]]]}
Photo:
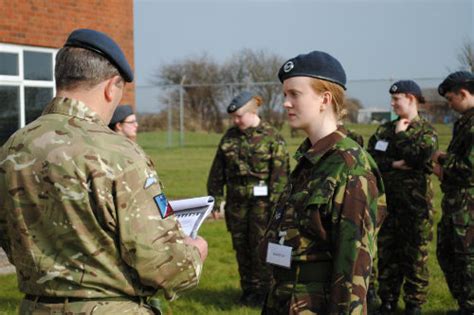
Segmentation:
{"type": "Polygon", "coordinates": [[[378,295],[382,301],[398,301],[403,285],[405,303],[421,305],[428,293],[432,193],[426,182],[405,184],[402,191],[387,185],[388,215],[378,235],[378,295]]]}

